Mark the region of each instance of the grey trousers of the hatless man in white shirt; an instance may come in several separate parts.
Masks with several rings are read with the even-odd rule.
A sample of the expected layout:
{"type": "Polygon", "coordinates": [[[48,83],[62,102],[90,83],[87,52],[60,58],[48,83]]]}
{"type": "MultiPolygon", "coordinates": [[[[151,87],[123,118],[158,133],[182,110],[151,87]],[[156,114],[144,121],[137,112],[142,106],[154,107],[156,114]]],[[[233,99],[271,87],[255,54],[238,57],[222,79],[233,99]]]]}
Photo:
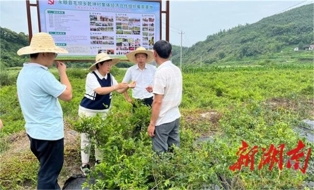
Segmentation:
{"type": "Polygon", "coordinates": [[[156,126],[155,136],[152,138],[154,151],[166,152],[173,144],[180,147],[179,123],[180,118],[156,126]]]}

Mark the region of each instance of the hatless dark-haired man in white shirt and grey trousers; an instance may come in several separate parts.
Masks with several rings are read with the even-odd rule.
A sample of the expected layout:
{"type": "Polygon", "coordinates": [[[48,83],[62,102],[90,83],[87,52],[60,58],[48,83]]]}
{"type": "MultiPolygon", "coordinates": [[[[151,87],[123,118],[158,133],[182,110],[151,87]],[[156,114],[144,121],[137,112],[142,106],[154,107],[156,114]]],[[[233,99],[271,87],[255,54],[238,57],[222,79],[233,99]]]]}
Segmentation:
{"type": "Polygon", "coordinates": [[[182,74],[169,60],[172,54],[169,42],[159,40],[153,49],[158,68],[153,87],[147,88],[154,94],[152,117],[147,132],[152,137],[153,150],[160,153],[168,151],[173,145],[180,146],[179,105],[182,99],[182,74]]]}

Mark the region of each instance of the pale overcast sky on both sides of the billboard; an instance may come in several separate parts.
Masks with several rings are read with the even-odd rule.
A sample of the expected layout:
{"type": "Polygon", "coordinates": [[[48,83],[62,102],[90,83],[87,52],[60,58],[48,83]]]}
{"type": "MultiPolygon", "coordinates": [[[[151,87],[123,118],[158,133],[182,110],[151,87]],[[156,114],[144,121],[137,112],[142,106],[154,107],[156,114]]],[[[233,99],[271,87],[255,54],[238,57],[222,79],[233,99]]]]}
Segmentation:
{"type": "MultiPolygon", "coordinates": [[[[34,0],[30,1],[35,3],[34,0]]],[[[285,10],[313,3],[314,0],[170,0],[170,43],[191,47],[220,29],[252,24],[285,10]]],[[[165,10],[165,2],[162,2],[165,10]]],[[[37,12],[31,7],[33,33],[38,32],[37,12]]],[[[28,34],[25,0],[0,0],[0,26],[28,34]]],[[[162,15],[162,39],[165,39],[165,15],[162,15]]]]}

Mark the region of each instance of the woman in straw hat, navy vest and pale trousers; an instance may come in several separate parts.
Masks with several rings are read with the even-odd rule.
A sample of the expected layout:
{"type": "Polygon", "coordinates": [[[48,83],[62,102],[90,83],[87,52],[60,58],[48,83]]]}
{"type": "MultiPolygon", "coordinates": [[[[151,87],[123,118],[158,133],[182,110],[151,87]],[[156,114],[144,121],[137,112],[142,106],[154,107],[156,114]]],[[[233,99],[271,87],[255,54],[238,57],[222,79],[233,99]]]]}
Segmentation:
{"type": "MultiPolygon", "coordinates": [[[[92,117],[101,114],[105,119],[106,113],[110,109],[111,93],[117,91],[124,93],[128,88],[134,88],[135,82],[118,83],[109,73],[113,65],[120,61],[119,58],[112,58],[108,54],[100,53],[96,56],[95,63],[89,68],[91,73],[87,75],[85,84],[85,95],[80,102],[78,115],[80,117],[92,117]]],[[[87,134],[81,134],[81,161],[80,169],[86,175],[89,171],[90,138],[87,134]],[[87,148],[87,152],[86,149],[87,148]]],[[[96,164],[102,160],[99,149],[95,148],[96,164]]]]}

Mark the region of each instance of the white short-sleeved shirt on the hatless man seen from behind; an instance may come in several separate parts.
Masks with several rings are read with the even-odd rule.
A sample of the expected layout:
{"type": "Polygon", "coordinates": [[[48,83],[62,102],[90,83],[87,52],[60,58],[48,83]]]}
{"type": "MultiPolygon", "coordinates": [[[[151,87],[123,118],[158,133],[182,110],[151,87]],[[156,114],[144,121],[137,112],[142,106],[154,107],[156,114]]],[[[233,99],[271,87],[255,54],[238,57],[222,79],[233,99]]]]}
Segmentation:
{"type": "Polygon", "coordinates": [[[156,126],[181,117],[179,105],[182,99],[182,74],[171,61],[166,61],[157,68],[153,93],[163,95],[156,126]]]}

